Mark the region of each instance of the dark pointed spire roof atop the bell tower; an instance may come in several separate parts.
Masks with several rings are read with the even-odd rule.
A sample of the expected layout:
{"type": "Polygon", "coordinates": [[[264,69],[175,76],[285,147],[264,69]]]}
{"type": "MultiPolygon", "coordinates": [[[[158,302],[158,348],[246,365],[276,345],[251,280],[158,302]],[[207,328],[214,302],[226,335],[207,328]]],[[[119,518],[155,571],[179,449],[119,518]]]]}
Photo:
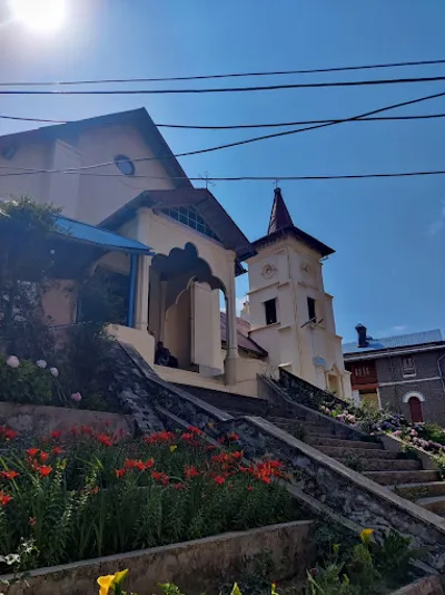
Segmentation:
{"type": "Polygon", "coordinates": [[[298,242],[306,244],[309,248],[318,252],[320,256],[328,256],[335,252],[323,242],[319,242],[312,235],[294,225],[289,211],[287,209],[286,203],[281,196],[280,188],[275,188],[274,204],[270,212],[267,234],[259,240],[255,240],[255,242],[251,244],[254,247],[259,248],[267,246],[268,244],[274,244],[278,240],[287,236],[294,237],[298,242]]]}

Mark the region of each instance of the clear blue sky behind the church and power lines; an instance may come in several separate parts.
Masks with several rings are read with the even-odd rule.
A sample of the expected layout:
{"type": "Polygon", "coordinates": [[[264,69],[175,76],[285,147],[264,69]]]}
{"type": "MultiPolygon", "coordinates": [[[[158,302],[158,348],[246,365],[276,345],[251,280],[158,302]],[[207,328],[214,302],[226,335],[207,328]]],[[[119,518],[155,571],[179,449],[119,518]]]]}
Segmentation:
{"type": "MultiPolygon", "coordinates": [[[[445,58],[442,0],[68,0],[70,27],[43,37],[0,28],[1,80],[187,76],[445,58]]],[[[445,66],[269,77],[261,84],[444,75],[445,66]]],[[[226,81],[230,82],[230,81],[226,81]]],[[[256,84],[238,79],[237,84],[256,84]]],[[[185,86],[185,84],[178,84],[185,86]]],[[[192,82],[197,86],[198,84],[192,82]]],[[[165,86],[165,84],[162,85],[165,86]]],[[[190,86],[190,85],[189,85],[190,86]]],[[[155,121],[246,124],[349,117],[441,92],[443,82],[261,94],[0,97],[0,113],[77,119],[145,106],[155,121]]],[[[445,113],[445,98],[399,114],[445,113]]],[[[0,121],[1,134],[27,124],[0,121]]],[[[256,130],[162,130],[176,153],[256,130]]],[[[345,124],[184,158],[190,176],[324,175],[444,169],[444,120],[345,124]]],[[[445,176],[283,182],[294,223],[337,252],[324,266],[337,331],[354,339],[445,330],[445,176]]],[[[266,232],[273,183],[210,189],[254,240],[266,232]]],[[[247,276],[238,281],[238,295],[247,276]]]]}

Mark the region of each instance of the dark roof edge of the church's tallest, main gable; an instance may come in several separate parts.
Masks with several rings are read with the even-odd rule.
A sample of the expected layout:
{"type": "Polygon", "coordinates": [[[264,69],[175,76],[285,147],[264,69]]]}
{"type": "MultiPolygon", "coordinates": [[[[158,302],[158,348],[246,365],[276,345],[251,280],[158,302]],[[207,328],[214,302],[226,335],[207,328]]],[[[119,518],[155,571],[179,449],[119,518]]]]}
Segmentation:
{"type": "Polygon", "coordinates": [[[0,148],[6,148],[9,144],[18,144],[20,139],[39,140],[46,138],[59,138],[68,144],[76,145],[76,137],[81,131],[102,126],[127,125],[135,126],[144,136],[147,145],[164,165],[166,173],[171,176],[171,182],[178,188],[191,188],[192,184],[188,179],[179,162],[172,154],[170,147],[160,134],[158,127],[150,118],[146,108],[119,111],[95,118],[87,118],[68,124],[56,124],[53,126],[42,126],[32,130],[13,133],[0,136],[0,148]]]}

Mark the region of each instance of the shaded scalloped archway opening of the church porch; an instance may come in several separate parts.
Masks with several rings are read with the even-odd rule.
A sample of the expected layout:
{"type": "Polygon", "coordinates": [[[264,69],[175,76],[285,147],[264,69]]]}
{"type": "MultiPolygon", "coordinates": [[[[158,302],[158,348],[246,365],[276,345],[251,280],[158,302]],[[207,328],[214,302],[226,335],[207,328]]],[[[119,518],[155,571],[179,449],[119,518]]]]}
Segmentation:
{"type": "MultiPolygon", "coordinates": [[[[150,266],[148,329],[178,360],[179,368],[220,373],[219,291],[222,282],[187,243],[150,266]]],[[[210,374],[211,375],[211,374],[210,374]]]]}

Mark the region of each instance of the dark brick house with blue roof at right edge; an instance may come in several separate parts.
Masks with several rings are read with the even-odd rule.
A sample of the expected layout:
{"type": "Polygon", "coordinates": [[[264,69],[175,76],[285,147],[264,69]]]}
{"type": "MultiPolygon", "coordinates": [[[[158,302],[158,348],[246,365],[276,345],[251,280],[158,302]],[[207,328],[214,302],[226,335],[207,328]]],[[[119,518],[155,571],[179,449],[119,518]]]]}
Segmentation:
{"type": "Polygon", "coordinates": [[[388,407],[412,421],[445,423],[445,341],[439,330],[373,339],[363,324],[343,345],[356,402],[388,407]]]}

